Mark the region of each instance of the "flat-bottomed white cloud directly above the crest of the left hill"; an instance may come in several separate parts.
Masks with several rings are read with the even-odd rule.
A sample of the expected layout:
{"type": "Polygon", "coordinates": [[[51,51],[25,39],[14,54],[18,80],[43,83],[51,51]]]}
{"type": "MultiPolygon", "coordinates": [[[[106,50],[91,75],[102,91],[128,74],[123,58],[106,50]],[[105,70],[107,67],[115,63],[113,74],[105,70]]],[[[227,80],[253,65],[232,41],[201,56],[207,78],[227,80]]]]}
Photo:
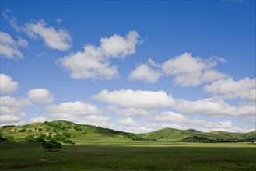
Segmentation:
{"type": "Polygon", "coordinates": [[[49,113],[57,113],[59,115],[62,114],[70,114],[70,115],[94,115],[100,112],[100,110],[93,105],[76,101],[76,102],[66,102],[61,103],[59,105],[51,105],[47,106],[47,111],[49,113]]]}

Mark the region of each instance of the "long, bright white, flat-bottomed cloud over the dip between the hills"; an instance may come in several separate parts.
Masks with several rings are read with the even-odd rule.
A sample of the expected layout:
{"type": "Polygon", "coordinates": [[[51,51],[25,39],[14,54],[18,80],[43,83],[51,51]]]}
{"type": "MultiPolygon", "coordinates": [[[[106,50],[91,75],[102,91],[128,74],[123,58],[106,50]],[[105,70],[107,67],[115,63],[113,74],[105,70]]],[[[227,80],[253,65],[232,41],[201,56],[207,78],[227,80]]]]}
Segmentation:
{"type": "Polygon", "coordinates": [[[134,91],[132,89],[121,89],[113,92],[104,89],[99,94],[94,95],[93,99],[110,103],[115,106],[144,110],[173,106],[175,103],[174,98],[163,91],[134,91]]]}

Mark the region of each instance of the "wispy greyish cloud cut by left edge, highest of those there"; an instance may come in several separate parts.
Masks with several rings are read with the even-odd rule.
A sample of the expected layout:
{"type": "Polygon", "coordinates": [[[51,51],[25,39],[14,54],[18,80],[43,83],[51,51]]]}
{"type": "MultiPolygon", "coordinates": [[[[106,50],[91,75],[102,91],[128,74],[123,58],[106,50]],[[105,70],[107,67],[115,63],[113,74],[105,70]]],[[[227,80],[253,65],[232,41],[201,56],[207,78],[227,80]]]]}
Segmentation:
{"type": "Polygon", "coordinates": [[[13,40],[12,37],[5,32],[0,31],[0,54],[3,58],[17,59],[23,58],[23,54],[18,47],[27,47],[26,40],[19,37],[19,40],[13,40]]]}

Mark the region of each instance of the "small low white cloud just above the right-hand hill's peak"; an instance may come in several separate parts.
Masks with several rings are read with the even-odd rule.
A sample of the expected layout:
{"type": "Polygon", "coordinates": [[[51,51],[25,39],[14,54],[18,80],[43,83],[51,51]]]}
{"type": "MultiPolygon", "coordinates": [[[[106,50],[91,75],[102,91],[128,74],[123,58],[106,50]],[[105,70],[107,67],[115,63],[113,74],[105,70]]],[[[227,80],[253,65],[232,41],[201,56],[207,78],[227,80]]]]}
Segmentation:
{"type": "Polygon", "coordinates": [[[168,111],[156,115],[153,120],[156,122],[187,123],[189,118],[184,115],[168,111]]]}

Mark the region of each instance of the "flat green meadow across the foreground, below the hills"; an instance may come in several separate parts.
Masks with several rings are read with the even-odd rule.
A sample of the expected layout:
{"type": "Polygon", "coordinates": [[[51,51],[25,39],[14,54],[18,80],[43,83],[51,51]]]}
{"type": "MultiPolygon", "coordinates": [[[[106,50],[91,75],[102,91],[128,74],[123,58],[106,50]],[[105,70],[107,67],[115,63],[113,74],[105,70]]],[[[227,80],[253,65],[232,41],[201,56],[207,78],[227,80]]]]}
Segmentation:
{"type": "Polygon", "coordinates": [[[249,143],[134,142],[63,145],[47,152],[37,143],[0,143],[1,170],[255,170],[249,143]]]}

